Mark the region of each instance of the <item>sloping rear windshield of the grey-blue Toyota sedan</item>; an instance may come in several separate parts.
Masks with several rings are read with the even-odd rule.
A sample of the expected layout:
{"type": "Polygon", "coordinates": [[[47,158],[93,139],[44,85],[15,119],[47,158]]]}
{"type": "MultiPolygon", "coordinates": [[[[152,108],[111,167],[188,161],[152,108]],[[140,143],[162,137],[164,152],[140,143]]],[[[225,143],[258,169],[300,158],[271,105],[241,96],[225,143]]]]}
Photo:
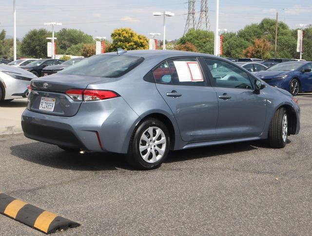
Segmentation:
{"type": "Polygon", "coordinates": [[[60,71],[59,74],[117,78],[136,68],[143,60],[138,56],[98,54],[60,71]]]}

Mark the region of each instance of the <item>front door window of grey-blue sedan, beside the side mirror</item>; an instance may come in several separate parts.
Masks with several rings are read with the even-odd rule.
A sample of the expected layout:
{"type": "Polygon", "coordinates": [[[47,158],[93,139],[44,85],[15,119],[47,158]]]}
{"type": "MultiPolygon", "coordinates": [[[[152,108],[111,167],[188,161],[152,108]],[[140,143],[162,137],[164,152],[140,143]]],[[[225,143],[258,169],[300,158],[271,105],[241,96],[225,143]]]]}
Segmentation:
{"type": "Polygon", "coordinates": [[[253,89],[248,74],[243,70],[222,60],[205,58],[204,61],[213,76],[215,87],[253,89]]]}

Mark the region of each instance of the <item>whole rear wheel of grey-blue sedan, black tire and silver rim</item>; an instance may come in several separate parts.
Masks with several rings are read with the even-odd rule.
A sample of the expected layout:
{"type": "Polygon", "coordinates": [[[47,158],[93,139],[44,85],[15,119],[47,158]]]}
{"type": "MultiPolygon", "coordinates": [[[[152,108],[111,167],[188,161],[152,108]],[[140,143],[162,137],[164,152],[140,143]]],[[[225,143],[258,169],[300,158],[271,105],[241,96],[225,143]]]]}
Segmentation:
{"type": "Polygon", "coordinates": [[[166,159],[170,147],[168,128],[149,118],[138,125],[129,144],[127,161],[141,170],[155,169],[166,159]]]}

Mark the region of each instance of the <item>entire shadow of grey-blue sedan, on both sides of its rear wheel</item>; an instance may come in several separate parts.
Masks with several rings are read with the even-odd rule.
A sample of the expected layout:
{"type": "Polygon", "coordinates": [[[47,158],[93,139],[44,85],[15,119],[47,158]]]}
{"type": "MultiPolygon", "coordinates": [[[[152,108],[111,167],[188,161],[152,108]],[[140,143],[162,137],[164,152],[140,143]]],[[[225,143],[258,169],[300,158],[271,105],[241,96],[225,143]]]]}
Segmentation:
{"type": "MultiPolygon", "coordinates": [[[[103,171],[127,169],[134,170],[125,159],[117,153],[66,152],[55,145],[35,142],[11,146],[11,154],[25,161],[59,169],[79,171],[103,171]]],[[[183,162],[186,160],[212,158],[219,155],[239,153],[257,149],[254,142],[198,147],[171,151],[165,163],[183,162]]]]}

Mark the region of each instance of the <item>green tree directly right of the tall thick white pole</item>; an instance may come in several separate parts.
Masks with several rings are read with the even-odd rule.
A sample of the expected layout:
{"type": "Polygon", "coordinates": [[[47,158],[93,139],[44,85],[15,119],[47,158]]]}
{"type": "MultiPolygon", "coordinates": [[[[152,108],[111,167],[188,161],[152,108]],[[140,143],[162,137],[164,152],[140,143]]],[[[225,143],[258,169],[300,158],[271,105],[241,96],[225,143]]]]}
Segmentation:
{"type": "Polygon", "coordinates": [[[226,57],[239,58],[242,56],[243,50],[250,45],[250,42],[237,36],[235,33],[223,34],[223,55],[226,57]]]}

